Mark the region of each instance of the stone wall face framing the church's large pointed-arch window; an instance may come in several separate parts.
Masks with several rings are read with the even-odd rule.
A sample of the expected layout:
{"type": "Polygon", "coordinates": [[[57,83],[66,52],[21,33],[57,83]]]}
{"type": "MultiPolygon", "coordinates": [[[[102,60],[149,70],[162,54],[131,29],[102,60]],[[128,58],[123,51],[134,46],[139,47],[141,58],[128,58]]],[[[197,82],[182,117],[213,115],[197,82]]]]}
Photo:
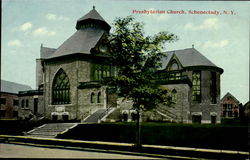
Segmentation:
{"type": "MultiPolygon", "coordinates": [[[[52,118],[52,112],[57,112],[58,107],[65,108],[65,112],[69,112],[69,119],[76,119],[77,118],[77,105],[78,105],[78,79],[81,78],[79,76],[78,78],[78,72],[79,71],[85,71],[88,70],[87,65],[86,67],[79,69],[79,61],[73,60],[73,59],[65,59],[63,61],[52,61],[52,62],[46,62],[45,66],[45,84],[44,84],[44,100],[45,100],[45,116],[48,119],[52,118]],[[52,105],[52,85],[53,80],[56,75],[56,73],[63,69],[65,73],[67,74],[69,78],[70,83],[70,104],[64,104],[64,105],[52,105]]],[[[88,73],[85,73],[88,74],[88,73]]]]}

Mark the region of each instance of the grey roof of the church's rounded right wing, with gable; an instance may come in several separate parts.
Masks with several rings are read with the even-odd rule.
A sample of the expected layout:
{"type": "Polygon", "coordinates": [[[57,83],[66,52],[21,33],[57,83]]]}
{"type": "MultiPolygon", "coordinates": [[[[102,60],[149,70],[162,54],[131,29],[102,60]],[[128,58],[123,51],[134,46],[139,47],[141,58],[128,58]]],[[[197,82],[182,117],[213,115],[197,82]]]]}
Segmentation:
{"type": "MultiPolygon", "coordinates": [[[[214,63],[212,63],[209,59],[203,56],[199,51],[195,48],[187,48],[182,50],[174,50],[166,52],[166,57],[162,58],[162,67],[160,69],[165,69],[171,58],[175,55],[182,67],[194,67],[194,66],[209,66],[209,67],[217,67],[214,63]]],[[[217,67],[219,68],[219,67],[217,67]]]]}

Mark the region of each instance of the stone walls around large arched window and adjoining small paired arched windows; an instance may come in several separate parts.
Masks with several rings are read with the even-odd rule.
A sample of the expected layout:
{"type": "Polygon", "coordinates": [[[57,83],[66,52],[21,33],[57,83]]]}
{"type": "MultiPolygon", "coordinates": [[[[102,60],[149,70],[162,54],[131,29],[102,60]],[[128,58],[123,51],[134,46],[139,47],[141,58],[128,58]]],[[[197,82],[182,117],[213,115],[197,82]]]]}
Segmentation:
{"type": "Polygon", "coordinates": [[[69,114],[69,119],[82,120],[90,113],[95,112],[98,108],[107,107],[106,87],[78,89],[79,82],[89,82],[91,75],[90,62],[78,59],[69,59],[58,62],[48,62],[45,69],[45,107],[46,117],[51,119],[53,112],[69,114]],[[56,73],[63,69],[70,81],[70,104],[53,105],[52,104],[52,84],[56,73]],[[91,103],[91,93],[96,98],[100,92],[100,103],[97,99],[91,103]]]}

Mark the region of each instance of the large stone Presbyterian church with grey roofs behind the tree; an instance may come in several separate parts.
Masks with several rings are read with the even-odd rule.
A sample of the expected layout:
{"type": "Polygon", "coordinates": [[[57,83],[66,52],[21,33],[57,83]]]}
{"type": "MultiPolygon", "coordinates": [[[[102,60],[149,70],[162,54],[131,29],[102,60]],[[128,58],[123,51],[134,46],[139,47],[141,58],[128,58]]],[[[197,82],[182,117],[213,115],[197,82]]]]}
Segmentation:
{"type": "MultiPolygon", "coordinates": [[[[95,7],[76,22],[76,32],[58,48],[41,45],[36,60],[37,90],[19,92],[19,117],[53,121],[133,121],[132,102],[111,94],[99,83],[115,76],[103,45],[111,26],[95,7]],[[25,104],[25,102],[29,104],[25,104]]],[[[194,47],[168,51],[157,78],[173,106],[161,105],[142,115],[143,121],[220,123],[220,75],[217,67],[194,47]]]]}

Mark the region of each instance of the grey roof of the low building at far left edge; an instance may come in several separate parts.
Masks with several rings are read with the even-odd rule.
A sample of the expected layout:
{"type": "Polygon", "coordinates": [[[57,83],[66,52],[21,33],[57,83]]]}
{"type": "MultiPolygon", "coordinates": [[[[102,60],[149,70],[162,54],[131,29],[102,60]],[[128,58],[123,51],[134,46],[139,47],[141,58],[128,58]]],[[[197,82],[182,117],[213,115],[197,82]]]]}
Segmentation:
{"type": "Polygon", "coordinates": [[[19,91],[31,90],[28,85],[1,80],[1,92],[18,94],[19,91]]]}

